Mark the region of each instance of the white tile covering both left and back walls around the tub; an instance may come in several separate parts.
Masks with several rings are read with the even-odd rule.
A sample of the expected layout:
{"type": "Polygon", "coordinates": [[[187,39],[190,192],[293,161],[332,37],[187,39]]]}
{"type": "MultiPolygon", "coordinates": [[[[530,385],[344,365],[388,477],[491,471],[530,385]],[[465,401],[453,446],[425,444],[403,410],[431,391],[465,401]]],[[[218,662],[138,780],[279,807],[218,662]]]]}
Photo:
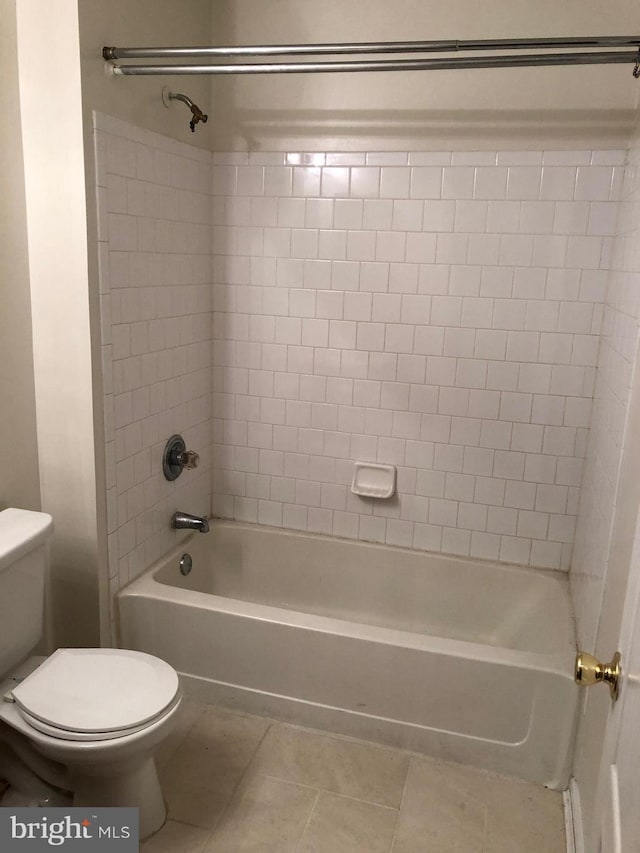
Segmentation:
{"type": "Polygon", "coordinates": [[[96,142],[112,592],[176,508],[569,567],[624,152],[96,142]]]}

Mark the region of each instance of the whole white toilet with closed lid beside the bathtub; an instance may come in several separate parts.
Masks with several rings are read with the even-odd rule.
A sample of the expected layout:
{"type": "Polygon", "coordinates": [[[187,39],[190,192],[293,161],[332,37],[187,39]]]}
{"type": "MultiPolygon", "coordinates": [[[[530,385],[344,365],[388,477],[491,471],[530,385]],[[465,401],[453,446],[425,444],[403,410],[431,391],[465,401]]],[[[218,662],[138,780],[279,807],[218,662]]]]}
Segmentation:
{"type": "Polygon", "coordinates": [[[178,675],[124,649],[28,657],[42,636],[52,530],[45,513],[0,512],[0,744],[74,806],[137,807],[144,838],[166,816],[153,751],[175,724],[178,675]]]}

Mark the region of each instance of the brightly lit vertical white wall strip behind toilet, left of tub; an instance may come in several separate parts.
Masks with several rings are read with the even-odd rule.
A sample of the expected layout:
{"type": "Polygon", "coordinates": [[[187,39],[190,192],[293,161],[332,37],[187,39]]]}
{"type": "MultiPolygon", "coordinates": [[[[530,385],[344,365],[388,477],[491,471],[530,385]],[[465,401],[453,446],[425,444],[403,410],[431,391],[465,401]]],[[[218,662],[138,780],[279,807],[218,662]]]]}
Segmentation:
{"type": "Polygon", "coordinates": [[[24,0],[17,33],[40,492],[55,522],[54,629],[58,645],[91,645],[96,480],[77,5],[24,0]],[[55,75],[52,43],[67,48],[55,75]]]}

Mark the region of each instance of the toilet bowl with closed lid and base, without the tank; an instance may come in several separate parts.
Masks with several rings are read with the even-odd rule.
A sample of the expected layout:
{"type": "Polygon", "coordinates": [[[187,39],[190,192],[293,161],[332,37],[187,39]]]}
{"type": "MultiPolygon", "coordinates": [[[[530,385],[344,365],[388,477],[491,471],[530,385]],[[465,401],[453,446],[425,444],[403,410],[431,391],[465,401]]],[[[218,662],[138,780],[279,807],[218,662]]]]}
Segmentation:
{"type": "Polygon", "coordinates": [[[58,649],[29,659],[0,692],[0,725],[64,766],[74,806],[138,808],[141,838],[162,826],[153,756],[182,701],[172,667],[141,652],[58,649]]]}

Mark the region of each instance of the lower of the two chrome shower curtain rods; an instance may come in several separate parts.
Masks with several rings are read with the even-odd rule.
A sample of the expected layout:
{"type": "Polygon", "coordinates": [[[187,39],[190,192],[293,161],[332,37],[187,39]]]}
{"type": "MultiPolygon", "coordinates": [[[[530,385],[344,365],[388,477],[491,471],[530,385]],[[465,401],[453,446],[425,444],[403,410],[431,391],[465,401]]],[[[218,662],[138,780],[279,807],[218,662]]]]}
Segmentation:
{"type": "MultiPolygon", "coordinates": [[[[159,76],[185,74],[313,74],[347,71],[440,71],[452,68],[518,68],[551,65],[611,65],[636,63],[639,52],[600,51],[592,53],[533,53],[509,56],[456,56],[443,59],[379,59],[352,62],[256,62],[250,64],[210,65],[117,65],[120,76],[159,76]]],[[[634,71],[634,76],[637,76],[634,71]]]]}

